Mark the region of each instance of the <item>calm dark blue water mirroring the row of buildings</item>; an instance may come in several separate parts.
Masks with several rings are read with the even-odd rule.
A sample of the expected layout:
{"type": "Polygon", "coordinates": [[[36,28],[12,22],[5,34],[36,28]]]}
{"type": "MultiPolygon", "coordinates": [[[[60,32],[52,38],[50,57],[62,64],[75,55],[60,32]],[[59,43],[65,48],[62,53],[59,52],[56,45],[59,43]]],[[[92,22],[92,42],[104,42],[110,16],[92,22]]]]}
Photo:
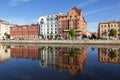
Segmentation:
{"type": "Polygon", "coordinates": [[[119,73],[119,46],[0,46],[1,80],[119,80],[119,73]]]}

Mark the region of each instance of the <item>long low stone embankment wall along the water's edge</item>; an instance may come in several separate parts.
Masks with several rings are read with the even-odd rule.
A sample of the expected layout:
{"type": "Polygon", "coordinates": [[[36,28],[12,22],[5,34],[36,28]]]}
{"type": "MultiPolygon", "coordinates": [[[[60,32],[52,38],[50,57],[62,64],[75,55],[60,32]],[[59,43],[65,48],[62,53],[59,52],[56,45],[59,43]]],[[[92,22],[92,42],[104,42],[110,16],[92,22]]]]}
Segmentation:
{"type": "Polygon", "coordinates": [[[92,44],[92,45],[120,45],[120,40],[0,40],[9,44],[92,44]]]}

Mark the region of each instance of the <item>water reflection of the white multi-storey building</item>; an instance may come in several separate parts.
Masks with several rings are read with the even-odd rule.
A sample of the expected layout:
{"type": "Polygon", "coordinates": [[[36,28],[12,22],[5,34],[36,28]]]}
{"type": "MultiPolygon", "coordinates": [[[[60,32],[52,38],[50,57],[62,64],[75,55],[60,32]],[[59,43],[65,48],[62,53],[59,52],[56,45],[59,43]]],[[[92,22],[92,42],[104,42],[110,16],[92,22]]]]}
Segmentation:
{"type": "Polygon", "coordinates": [[[42,68],[58,68],[58,50],[56,47],[41,47],[39,53],[39,65],[42,68]]]}

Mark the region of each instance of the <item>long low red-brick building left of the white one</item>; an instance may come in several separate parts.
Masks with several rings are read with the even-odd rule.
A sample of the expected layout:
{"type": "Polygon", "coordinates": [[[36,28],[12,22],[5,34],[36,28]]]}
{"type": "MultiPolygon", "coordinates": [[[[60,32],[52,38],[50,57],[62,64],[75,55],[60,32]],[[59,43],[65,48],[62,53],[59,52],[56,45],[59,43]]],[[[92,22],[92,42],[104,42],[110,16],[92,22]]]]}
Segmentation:
{"type": "Polygon", "coordinates": [[[10,28],[10,37],[11,39],[38,39],[38,25],[15,25],[10,28]]]}

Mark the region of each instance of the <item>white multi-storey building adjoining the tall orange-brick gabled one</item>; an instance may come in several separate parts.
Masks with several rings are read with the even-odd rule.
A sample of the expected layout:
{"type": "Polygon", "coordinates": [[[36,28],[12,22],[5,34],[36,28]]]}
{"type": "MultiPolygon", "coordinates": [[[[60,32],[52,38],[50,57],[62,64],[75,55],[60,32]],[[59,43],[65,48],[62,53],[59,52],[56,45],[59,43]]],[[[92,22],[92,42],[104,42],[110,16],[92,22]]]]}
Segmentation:
{"type": "Polygon", "coordinates": [[[54,39],[58,35],[58,14],[41,16],[38,20],[39,34],[44,39],[54,39]]]}

